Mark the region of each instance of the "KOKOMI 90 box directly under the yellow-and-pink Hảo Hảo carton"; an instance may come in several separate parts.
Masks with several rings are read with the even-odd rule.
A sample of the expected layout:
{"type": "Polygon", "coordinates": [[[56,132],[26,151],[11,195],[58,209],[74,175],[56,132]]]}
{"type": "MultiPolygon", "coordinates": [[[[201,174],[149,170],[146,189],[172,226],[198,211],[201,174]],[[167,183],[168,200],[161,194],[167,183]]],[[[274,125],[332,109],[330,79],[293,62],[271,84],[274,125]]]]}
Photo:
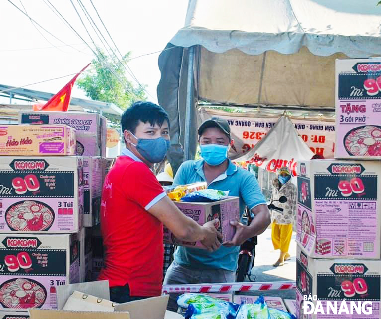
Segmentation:
{"type": "Polygon", "coordinates": [[[0,233],[73,233],[82,218],[81,157],[0,157],[0,233]]]}

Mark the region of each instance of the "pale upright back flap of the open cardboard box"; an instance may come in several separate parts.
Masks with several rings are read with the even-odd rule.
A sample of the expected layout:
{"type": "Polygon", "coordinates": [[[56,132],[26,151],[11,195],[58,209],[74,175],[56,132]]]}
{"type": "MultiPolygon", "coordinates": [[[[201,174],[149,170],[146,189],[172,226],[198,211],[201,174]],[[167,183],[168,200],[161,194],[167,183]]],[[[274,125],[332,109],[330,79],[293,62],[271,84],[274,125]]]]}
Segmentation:
{"type": "Polygon", "coordinates": [[[61,310],[74,290],[85,294],[93,295],[98,298],[110,300],[110,288],[108,280],[82,282],[64,286],[57,286],[57,309],[61,310]]]}

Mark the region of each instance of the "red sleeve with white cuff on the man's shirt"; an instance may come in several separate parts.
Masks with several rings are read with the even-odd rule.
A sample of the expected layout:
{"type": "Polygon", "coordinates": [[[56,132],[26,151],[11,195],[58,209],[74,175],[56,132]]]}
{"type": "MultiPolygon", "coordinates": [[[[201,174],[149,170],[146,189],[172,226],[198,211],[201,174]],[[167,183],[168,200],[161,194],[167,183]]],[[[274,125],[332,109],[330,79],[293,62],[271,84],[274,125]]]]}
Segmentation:
{"type": "Polygon", "coordinates": [[[145,210],[150,209],[160,199],[166,196],[166,192],[160,185],[156,176],[141,162],[134,162],[126,169],[122,187],[127,198],[136,202],[145,210]]]}

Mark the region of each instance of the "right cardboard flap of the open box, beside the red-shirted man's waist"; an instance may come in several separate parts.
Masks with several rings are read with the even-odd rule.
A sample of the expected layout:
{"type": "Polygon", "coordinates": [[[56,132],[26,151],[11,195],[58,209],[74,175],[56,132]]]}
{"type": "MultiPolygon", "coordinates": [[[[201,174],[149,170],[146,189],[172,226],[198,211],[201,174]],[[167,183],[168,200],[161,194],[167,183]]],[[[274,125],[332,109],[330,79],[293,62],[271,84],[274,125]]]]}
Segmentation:
{"type": "Polygon", "coordinates": [[[128,311],[131,319],[163,319],[167,309],[169,295],[130,301],[115,305],[114,311],[128,311]]]}

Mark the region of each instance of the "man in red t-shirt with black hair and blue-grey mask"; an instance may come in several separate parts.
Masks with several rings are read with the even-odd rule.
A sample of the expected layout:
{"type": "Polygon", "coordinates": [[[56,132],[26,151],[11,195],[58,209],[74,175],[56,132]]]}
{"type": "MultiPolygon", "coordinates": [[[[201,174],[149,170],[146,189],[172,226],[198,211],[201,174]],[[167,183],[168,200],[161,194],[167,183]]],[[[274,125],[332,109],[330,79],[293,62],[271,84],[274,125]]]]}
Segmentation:
{"type": "Polygon", "coordinates": [[[150,170],[169,148],[168,114],[151,102],[136,102],[121,119],[126,148],[106,176],[101,203],[105,267],[110,299],[123,303],[161,294],[163,224],[180,240],[220,247],[212,221],[198,225],[166,196],[150,170]]]}

